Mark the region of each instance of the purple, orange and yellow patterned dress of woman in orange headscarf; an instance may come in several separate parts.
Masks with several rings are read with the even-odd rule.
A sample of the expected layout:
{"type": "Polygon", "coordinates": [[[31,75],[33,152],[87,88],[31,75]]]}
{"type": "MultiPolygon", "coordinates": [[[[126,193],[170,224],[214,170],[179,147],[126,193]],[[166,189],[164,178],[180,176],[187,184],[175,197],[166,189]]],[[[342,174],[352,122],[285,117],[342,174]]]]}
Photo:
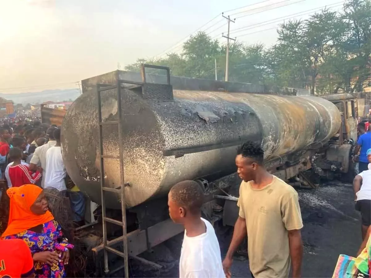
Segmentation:
{"type": "MultiPolygon", "coordinates": [[[[59,223],[55,220],[43,224],[41,234],[27,230],[17,235],[6,236],[5,239],[20,238],[29,246],[32,255],[43,251],[63,252],[72,249],[73,245],[62,242],[63,234],[59,223]]],[[[63,262],[52,266],[42,262],[35,262],[36,278],[64,278],[66,277],[63,262]]]]}

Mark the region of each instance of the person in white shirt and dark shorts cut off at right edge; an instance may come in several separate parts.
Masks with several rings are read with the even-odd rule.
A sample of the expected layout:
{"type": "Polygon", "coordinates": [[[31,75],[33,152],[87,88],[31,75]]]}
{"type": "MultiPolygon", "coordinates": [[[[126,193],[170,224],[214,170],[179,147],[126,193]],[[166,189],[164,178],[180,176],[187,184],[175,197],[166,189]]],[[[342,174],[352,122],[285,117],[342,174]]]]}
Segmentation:
{"type": "Polygon", "coordinates": [[[362,239],[365,239],[367,229],[371,225],[371,149],[367,150],[366,155],[368,170],[359,173],[353,180],[355,209],[361,212],[362,218],[362,239]]]}

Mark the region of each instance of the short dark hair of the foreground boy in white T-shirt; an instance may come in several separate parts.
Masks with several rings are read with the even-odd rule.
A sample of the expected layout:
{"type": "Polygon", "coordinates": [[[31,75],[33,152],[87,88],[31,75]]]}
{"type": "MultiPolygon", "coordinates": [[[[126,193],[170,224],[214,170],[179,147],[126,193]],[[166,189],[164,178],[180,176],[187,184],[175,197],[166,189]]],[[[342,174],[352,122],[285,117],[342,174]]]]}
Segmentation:
{"type": "Polygon", "coordinates": [[[200,212],[204,203],[204,192],[195,181],[178,182],[171,189],[171,199],[180,207],[188,209],[191,213],[200,212]]]}

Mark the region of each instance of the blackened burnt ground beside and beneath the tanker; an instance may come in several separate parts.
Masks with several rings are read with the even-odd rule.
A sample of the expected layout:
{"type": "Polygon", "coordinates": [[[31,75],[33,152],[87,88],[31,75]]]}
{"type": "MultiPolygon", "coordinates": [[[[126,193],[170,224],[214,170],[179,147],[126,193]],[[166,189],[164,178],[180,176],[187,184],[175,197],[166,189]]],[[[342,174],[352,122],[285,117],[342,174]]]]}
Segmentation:
{"type": "MultiPolygon", "coordinates": [[[[360,217],[354,209],[352,185],[329,182],[318,189],[298,189],[298,193],[304,222],[302,277],[331,277],[339,254],[355,255],[361,244],[360,217]]],[[[164,265],[164,270],[150,269],[131,261],[131,276],[178,277],[181,239],[182,235],[177,236],[145,255],[164,265]]],[[[222,251],[228,247],[229,240],[229,236],[221,237],[222,251]]],[[[246,258],[235,258],[231,271],[233,277],[250,278],[246,258]]]]}

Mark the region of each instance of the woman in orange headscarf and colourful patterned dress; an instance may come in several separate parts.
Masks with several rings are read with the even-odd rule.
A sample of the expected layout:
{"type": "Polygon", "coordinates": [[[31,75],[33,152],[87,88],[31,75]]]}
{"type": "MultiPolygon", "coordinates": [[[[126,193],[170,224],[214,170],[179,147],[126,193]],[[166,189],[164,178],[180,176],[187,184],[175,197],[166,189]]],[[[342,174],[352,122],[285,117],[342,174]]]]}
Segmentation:
{"type": "Polygon", "coordinates": [[[62,230],[49,211],[41,188],[33,184],[7,190],[10,198],[8,227],[4,239],[19,238],[29,246],[37,278],[64,278],[69,249],[73,245],[63,238],[62,230]]]}

